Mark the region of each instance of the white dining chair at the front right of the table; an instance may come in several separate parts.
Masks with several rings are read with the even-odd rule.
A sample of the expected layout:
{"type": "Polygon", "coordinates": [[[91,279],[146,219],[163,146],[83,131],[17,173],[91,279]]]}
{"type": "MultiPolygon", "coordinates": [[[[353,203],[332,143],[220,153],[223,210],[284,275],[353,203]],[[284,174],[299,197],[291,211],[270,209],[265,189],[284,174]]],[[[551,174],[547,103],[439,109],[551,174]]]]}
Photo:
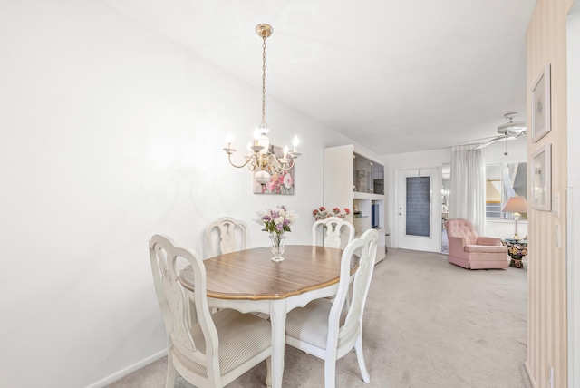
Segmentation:
{"type": "Polygon", "coordinates": [[[371,376],[362,354],[362,314],[371,285],[374,256],[379,235],[375,229],[365,231],[345,248],[341,261],[338,291],[333,302],[315,299],[304,307],[295,308],[286,317],[285,343],[324,360],[324,386],[334,387],[336,360],[356,351],[362,380],[371,376]],[[351,260],[359,257],[354,274],[353,299],[346,308],[351,260]]]}

